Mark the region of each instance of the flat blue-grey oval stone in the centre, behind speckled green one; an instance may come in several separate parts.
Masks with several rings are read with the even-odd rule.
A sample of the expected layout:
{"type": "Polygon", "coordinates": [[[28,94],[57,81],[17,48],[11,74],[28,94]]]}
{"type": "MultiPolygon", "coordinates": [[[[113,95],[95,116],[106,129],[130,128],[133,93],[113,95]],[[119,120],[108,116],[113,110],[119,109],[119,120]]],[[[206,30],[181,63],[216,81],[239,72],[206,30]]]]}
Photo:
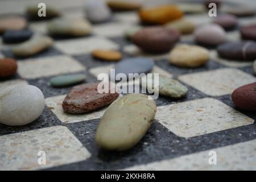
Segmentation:
{"type": "Polygon", "coordinates": [[[114,80],[113,76],[116,76],[118,73],[123,73],[127,76],[127,78],[132,78],[129,76],[129,73],[148,73],[154,67],[155,63],[153,60],[144,58],[144,57],[135,57],[129,58],[120,61],[119,63],[115,64],[115,75],[111,78],[114,80]]]}

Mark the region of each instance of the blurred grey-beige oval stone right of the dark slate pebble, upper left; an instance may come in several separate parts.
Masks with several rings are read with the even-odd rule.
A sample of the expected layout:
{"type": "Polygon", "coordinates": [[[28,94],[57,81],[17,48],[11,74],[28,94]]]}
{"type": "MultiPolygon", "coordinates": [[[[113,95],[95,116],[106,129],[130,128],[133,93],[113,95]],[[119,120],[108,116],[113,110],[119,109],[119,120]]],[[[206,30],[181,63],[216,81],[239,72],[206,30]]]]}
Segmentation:
{"type": "Polygon", "coordinates": [[[48,33],[51,35],[85,36],[90,31],[90,23],[85,19],[57,18],[48,24],[48,33]]]}

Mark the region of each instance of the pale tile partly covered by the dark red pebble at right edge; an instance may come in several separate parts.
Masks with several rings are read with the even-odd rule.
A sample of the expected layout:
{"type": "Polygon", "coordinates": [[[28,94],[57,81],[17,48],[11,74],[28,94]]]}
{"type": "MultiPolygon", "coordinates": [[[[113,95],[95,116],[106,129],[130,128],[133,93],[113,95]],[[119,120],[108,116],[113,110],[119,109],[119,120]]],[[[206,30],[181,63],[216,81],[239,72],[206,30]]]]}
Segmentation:
{"type": "Polygon", "coordinates": [[[236,68],[191,73],[181,75],[178,79],[209,96],[230,94],[239,86],[256,81],[254,76],[236,68]]]}

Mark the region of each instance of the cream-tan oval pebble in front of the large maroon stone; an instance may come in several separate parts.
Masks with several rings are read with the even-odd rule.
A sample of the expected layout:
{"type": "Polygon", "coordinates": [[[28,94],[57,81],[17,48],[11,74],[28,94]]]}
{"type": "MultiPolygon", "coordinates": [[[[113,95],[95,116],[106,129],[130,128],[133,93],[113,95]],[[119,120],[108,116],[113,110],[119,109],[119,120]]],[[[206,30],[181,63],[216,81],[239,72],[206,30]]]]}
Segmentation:
{"type": "Polygon", "coordinates": [[[209,60],[209,51],[204,47],[179,44],[170,53],[170,63],[179,67],[196,68],[209,60]]]}

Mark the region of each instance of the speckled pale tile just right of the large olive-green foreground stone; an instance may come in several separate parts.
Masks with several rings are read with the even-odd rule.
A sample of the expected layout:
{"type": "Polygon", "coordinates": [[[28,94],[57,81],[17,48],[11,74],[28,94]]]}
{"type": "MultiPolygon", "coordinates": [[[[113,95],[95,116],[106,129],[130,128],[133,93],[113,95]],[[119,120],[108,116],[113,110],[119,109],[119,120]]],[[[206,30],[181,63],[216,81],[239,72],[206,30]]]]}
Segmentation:
{"type": "Polygon", "coordinates": [[[250,125],[254,119],[214,98],[158,107],[155,119],[179,137],[195,137],[250,125]]]}

